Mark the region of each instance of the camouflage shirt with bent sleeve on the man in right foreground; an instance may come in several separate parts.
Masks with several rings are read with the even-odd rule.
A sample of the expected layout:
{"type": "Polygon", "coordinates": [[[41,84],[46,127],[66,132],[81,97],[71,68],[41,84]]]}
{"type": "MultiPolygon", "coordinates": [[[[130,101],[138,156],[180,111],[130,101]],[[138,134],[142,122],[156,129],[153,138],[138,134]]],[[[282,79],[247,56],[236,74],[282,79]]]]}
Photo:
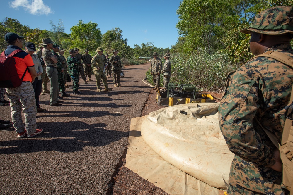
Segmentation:
{"type": "Polygon", "coordinates": [[[292,77],[292,69],[264,57],[227,77],[219,123],[230,151],[247,162],[267,167],[275,163],[274,145],[256,120],[281,142],[292,77]]]}

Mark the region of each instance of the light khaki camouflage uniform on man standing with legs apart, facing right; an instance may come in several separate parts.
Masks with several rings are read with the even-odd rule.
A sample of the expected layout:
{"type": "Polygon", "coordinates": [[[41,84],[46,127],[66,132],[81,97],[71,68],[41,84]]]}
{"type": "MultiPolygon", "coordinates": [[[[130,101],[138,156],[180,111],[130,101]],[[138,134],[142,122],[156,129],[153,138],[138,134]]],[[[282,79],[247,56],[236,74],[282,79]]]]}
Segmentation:
{"type": "Polygon", "coordinates": [[[103,72],[104,65],[105,65],[103,55],[100,56],[99,54],[96,54],[95,56],[93,56],[91,63],[93,64],[93,67],[94,67],[93,73],[95,73],[97,88],[101,89],[101,79],[103,81],[105,88],[108,88],[107,77],[105,73],[103,72]]]}

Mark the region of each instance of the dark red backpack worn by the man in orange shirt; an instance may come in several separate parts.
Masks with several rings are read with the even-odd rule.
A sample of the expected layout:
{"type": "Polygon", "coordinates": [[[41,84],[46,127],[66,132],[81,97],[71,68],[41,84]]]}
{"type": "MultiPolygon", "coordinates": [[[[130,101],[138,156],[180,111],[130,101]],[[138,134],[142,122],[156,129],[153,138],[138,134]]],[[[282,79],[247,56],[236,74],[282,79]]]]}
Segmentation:
{"type": "Polygon", "coordinates": [[[0,56],[0,88],[15,88],[21,85],[23,77],[28,70],[24,71],[21,79],[18,77],[18,73],[15,67],[15,59],[13,56],[22,50],[16,49],[6,56],[4,51],[0,56]]]}

